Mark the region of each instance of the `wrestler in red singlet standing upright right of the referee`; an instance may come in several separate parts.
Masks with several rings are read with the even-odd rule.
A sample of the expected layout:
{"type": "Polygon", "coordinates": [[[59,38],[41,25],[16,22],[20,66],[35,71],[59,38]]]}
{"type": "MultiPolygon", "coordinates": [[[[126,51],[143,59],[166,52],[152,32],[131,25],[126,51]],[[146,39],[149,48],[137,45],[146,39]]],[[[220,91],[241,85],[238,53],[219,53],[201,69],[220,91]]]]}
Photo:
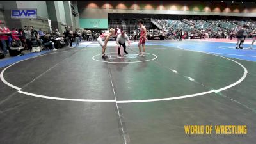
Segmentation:
{"type": "Polygon", "coordinates": [[[139,38],[140,42],[138,44],[140,53],[138,54],[138,56],[145,56],[145,40],[146,40],[146,36],[147,36],[147,29],[143,25],[142,19],[138,20],[138,25],[140,26],[140,38],[139,38]],[[143,52],[141,52],[141,45],[143,47],[143,52]]]}

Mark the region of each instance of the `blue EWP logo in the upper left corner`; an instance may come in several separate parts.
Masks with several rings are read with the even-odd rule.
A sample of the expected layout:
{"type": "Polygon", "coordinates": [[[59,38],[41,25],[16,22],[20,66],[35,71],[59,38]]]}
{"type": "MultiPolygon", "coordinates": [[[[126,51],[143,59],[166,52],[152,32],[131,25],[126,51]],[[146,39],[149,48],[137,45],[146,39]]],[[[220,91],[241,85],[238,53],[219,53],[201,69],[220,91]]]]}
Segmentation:
{"type": "Polygon", "coordinates": [[[36,19],[37,9],[12,10],[11,17],[12,19],[21,19],[21,18],[36,19]]]}

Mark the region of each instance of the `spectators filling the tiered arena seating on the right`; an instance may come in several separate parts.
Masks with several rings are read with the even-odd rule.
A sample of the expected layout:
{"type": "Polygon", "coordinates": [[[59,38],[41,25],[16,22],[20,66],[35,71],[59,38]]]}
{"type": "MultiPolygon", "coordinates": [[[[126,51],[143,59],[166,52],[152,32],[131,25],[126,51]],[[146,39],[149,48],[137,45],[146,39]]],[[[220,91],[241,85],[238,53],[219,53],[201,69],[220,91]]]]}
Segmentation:
{"type": "MultiPolygon", "coordinates": [[[[168,38],[175,38],[175,35],[182,35],[182,38],[197,36],[200,38],[235,38],[239,29],[244,25],[248,26],[248,37],[253,38],[253,30],[256,28],[256,21],[252,20],[202,20],[202,19],[156,19],[168,38]],[[182,34],[180,34],[182,31],[182,34]]],[[[163,32],[161,32],[163,33],[163,32]]],[[[178,36],[179,37],[179,36],[178,36]]]]}

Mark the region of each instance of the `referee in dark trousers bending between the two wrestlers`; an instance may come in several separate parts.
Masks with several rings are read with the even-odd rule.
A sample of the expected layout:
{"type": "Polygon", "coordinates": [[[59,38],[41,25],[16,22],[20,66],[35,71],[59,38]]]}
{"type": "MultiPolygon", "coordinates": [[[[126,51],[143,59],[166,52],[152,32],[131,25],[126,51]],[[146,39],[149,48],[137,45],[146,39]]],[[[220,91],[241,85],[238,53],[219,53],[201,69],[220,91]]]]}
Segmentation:
{"type": "Polygon", "coordinates": [[[124,53],[128,54],[128,52],[126,51],[126,45],[125,45],[125,41],[128,41],[128,44],[130,45],[130,40],[129,40],[129,36],[125,33],[125,31],[122,31],[116,38],[116,44],[118,45],[118,56],[121,56],[120,54],[120,48],[121,45],[124,48],[124,53]]]}

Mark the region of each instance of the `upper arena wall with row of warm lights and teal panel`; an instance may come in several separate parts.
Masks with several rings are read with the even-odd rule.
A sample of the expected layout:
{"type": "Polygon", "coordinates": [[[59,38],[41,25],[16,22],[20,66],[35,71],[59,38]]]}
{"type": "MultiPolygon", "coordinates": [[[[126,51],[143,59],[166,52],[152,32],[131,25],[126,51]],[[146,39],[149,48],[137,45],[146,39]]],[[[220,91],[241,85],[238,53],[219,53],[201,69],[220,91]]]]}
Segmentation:
{"type": "MultiPolygon", "coordinates": [[[[256,2],[77,1],[77,3],[81,28],[92,28],[86,24],[86,20],[91,23],[108,20],[108,13],[256,17],[256,2]]],[[[99,26],[93,26],[93,28],[97,27],[99,26]]],[[[103,27],[108,28],[108,24],[104,24],[103,27]]]]}

